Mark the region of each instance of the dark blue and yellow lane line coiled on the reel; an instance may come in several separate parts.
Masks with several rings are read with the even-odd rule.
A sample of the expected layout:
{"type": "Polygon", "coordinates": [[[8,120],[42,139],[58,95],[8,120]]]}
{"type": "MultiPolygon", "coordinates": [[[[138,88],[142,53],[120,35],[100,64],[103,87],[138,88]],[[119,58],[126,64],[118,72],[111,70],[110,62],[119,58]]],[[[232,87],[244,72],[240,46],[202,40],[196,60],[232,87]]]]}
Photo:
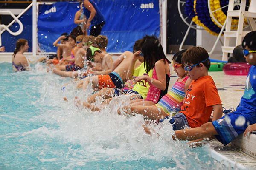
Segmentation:
{"type": "MultiPolygon", "coordinates": [[[[227,7],[222,8],[228,5],[228,0],[211,0],[210,8],[215,19],[224,25],[224,22],[227,18],[227,7]],[[221,9],[221,10],[217,10],[221,9]],[[217,10],[217,11],[216,11],[217,10]]],[[[250,0],[247,0],[247,5],[249,6],[250,0]]],[[[212,16],[209,13],[208,0],[186,0],[185,5],[185,14],[198,26],[204,27],[204,29],[212,35],[218,36],[221,31],[221,26],[219,26],[213,20],[212,16]]],[[[247,24],[247,20],[244,20],[247,24]]],[[[238,25],[238,19],[232,20],[232,25],[238,25]]],[[[232,27],[231,29],[237,29],[237,27],[232,27]]]]}

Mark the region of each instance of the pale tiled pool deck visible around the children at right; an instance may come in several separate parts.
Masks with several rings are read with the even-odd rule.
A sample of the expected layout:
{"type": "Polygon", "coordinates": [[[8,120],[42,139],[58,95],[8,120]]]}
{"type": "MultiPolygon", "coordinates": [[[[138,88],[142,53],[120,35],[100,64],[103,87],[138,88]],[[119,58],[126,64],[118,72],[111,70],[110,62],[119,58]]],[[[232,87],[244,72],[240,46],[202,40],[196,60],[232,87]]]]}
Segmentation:
{"type": "MultiPolygon", "coordinates": [[[[171,61],[172,55],[167,55],[167,58],[171,61]]],[[[210,56],[210,58],[221,60],[221,56],[210,56]]],[[[170,64],[170,70],[171,79],[169,89],[172,88],[178,78],[172,70],[172,64],[170,64]]],[[[226,75],[223,71],[209,72],[209,75],[212,76],[212,79],[215,82],[223,107],[226,109],[234,108],[236,110],[236,107],[239,105],[240,99],[244,94],[245,80],[247,76],[226,75]]],[[[224,146],[218,142],[218,140],[214,139],[209,142],[209,146],[231,161],[244,165],[246,169],[256,169],[255,134],[250,134],[249,138],[244,138],[243,134],[241,134],[227,146],[224,146]]]]}

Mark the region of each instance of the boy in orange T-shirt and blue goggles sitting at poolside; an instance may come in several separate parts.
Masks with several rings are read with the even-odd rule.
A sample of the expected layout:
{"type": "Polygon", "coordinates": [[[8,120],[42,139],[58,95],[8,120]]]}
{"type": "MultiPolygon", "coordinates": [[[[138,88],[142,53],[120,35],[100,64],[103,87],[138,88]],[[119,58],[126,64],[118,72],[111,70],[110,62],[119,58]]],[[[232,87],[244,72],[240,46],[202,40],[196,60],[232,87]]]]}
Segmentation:
{"type": "MultiPolygon", "coordinates": [[[[209,121],[212,109],[212,121],[221,118],[223,111],[218,90],[212,77],[208,75],[211,65],[208,52],[201,47],[189,48],[183,54],[181,63],[192,82],[186,91],[180,113],[169,120],[173,130],[183,129],[185,125],[191,128],[200,127],[209,121]]],[[[164,119],[160,119],[160,122],[164,119]]]]}

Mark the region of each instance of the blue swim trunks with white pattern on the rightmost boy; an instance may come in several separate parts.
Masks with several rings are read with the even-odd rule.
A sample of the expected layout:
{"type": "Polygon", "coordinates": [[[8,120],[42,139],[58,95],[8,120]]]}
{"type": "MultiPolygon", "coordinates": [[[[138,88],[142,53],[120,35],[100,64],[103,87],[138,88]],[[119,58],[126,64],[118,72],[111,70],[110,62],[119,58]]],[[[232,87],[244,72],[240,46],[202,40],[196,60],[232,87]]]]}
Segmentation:
{"type": "Polygon", "coordinates": [[[241,133],[244,133],[245,129],[248,127],[248,125],[250,125],[249,120],[247,120],[244,116],[240,116],[242,116],[242,114],[235,111],[212,122],[212,125],[218,132],[218,135],[215,135],[215,137],[219,142],[224,144],[224,146],[236,139],[236,137],[241,133]]]}

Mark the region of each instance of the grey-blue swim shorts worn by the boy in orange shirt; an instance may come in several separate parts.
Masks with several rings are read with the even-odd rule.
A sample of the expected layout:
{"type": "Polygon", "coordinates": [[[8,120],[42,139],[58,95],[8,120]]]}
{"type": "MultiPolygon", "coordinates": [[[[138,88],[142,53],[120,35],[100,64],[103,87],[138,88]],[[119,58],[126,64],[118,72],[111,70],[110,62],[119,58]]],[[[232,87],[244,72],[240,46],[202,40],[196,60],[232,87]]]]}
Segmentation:
{"type": "Polygon", "coordinates": [[[185,126],[189,127],[189,122],[183,113],[175,114],[172,116],[172,119],[170,119],[170,116],[166,116],[164,119],[159,119],[159,122],[163,122],[165,119],[169,119],[169,122],[172,124],[172,130],[181,130],[185,126]]]}

